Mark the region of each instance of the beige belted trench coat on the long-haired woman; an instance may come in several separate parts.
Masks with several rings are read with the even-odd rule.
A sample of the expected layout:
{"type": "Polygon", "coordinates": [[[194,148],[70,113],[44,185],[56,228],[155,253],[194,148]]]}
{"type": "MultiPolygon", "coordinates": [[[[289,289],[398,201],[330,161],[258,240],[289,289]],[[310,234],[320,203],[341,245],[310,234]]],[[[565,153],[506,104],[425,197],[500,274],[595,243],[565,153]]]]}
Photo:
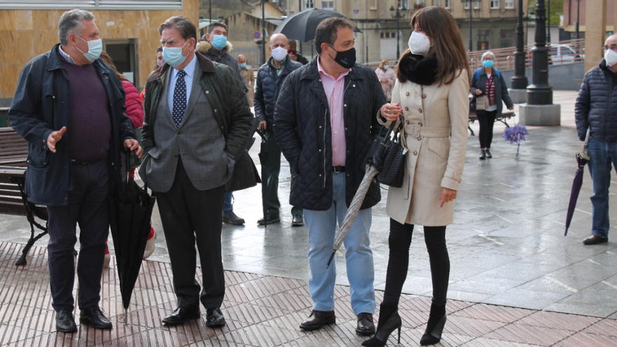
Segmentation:
{"type": "MultiPolygon", "coordinates": [[[[392,103],[405,116],[407,158],[401,188],[390,187],[386,212],[421,226],[452,224],[454,201],[440,207],[442,187],[458,190],[465,164],[469,117],[468,74],[449,85],[395,82],[392,103]]],[[[379,115],[380,122],[383,118],[379,115]]],[[[386,123],[389,126],[389,123],[386,123]]]]}

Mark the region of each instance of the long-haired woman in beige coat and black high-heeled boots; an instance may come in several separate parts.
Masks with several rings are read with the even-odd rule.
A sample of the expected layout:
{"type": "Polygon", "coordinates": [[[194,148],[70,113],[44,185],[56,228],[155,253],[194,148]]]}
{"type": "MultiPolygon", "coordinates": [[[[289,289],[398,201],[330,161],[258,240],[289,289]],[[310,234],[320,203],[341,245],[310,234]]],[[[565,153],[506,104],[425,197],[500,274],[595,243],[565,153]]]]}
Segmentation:
{"type": "Polygon", "coordinates": [[[378,118],[389,126],[402,115],[407,144],[405,179],[390,188],[391,217],[386,290],[376,335],[363,346],[384,346],[402,325],[398,301],[407,278],[414,225],[424,227],[433,302],[420,344],[438,343],[446,320],[449,257],[445,231],[452,224],[467,146],[469,65],[461,32],[449,11],[431,6],[414,13],[409,50],[397,66],[392,104],[378,118]],[[386,123],[387,121],[387,123],[386,123]]]}

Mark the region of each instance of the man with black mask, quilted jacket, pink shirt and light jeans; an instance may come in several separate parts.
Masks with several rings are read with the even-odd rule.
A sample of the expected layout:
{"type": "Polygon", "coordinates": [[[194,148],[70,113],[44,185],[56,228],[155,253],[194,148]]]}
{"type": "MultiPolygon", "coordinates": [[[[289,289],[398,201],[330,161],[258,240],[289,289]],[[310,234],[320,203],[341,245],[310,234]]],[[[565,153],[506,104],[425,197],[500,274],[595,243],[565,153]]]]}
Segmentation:
{"type": "MultiPolygon", "coordinates": [[[[304,330],[332,324],[334,262],[325,268],[337,229],[364,177],[365,158],[379,132],[377,112],[386,104],[377,74],[355,64],[355,25],[328,18],[318,25],[318,57],[287,76],[274,111],[274,135],[292,168],[290,203],[304,208],[308,226],[308,282],[313,312],[304,330]]],[[[373,182],[345,238],[351,308],[356,332],[373,334],[375,310],[373,254],[369,241],[371,207],[381,198],[373,182]]]]}

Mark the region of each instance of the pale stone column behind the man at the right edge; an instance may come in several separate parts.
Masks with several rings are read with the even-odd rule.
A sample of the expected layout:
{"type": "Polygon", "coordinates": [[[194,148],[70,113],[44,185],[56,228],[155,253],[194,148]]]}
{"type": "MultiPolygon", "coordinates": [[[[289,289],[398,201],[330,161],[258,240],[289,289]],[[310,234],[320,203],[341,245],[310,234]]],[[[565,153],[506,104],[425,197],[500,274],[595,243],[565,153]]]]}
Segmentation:
{"type": "Polygon", "coordinates": [[[585,72],[604,59],[606,41],[606,0],[586,0],[585,4],[585,72]]]}

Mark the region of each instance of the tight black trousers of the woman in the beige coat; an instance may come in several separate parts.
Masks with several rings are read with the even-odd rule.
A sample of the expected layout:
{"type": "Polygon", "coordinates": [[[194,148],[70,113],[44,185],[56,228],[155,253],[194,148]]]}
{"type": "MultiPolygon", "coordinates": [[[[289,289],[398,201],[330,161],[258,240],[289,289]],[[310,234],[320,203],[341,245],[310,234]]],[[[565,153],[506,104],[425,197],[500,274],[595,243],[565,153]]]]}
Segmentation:
{"type": "MultiPolygon", "coordinates": [[[[384,304],[398,304],[402,285],[409,267],[409,246],[412,245],[413,224],[400,224],[390,219],[390,258],[386,273],[384,304]]],[[[433,280],[433,304],[445,305],[450,276],[450,259],[446,247],[445,226],[425,226],[424,243],[430,261],[430,278],[433,280]]]]}

